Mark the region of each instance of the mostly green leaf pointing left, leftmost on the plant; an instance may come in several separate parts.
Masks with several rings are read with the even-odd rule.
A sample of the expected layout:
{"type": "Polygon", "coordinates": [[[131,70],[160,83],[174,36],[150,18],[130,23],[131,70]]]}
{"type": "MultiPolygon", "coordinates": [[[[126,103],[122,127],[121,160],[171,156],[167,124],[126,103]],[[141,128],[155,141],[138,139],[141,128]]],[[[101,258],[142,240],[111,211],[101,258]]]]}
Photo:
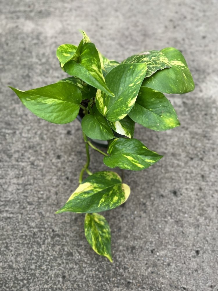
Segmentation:
{"type": "Polygon", "coordinates": [[[57,82],[28,91],[10,88],[26,108],[49,122],[69,123],[78,115],[82,94],[73,84],[57,82]]]}

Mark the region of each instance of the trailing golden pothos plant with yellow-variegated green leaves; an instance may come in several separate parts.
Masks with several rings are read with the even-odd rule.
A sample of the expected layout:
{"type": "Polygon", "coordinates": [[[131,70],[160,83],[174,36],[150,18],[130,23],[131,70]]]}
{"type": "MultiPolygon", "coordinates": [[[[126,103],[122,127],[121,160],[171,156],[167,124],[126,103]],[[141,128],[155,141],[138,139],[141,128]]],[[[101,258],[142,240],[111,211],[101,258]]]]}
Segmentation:
{"type": "Polygon", "coordinates": [[[175,48],[130,56],[121,63],[104,57],[83,32],[78,47],[57,49],[60,66],[71,77],[28,91],[10,87],[35,115],[52,123],[81,118],[87,161],[79,186],[56,213],[85,213],[85,237],[93,250],[112,262],[110,227],[99,214],[124,203],[130,187],[114,171],[91,173],[89,148],[103,155],[109,168],[141,171],[162,158],[133,138],[135,122],[156,131],[179,126],[176,112],[163,93],[194,90],[187,63],[175,48]],[[125,137],[115,137],[115,134],[125,137]],[[91,139],[108,141],[107,153],[91,139]],[[84,179],[84,173],[87,178],[84,179]]]}

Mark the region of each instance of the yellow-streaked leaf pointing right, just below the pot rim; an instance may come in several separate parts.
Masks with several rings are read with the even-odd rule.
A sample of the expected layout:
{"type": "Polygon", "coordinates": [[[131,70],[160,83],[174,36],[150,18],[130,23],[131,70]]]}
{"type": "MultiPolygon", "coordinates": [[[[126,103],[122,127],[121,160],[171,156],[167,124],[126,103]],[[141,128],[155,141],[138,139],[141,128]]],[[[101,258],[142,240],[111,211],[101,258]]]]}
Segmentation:
{"type": "Polygon", "coordinates": [[[108,157],[103,162],[110,168],[141,171],[156,163],[162,156],[146,148],[137,139],[114,139],[108,147],[108,157]]]}

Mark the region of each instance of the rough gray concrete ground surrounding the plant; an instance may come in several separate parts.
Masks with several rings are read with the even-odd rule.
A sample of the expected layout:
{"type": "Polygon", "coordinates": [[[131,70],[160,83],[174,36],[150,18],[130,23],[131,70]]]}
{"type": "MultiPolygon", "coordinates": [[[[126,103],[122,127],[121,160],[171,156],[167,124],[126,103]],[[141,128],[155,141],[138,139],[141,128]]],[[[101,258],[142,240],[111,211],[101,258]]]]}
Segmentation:
{"type": "MultiPolygon", "coordinates": [[[[217,0],[0,4],[0,290],[218,290],[217,0]],[[55,215],[85,162],[80,124],[49,124],[6,87],[63,78],[56,48],[78,44],[78,29],[118,61],[174,46],[196,83],[169,97],[181,127],[136,126],[135,137],[165,157],[127,171],[128,202],[105,213],[113,264],[86,242],[83,214],[55,215]]],[[[92,162],[92,171],[106,168],[95,152],[92,162]]]]}

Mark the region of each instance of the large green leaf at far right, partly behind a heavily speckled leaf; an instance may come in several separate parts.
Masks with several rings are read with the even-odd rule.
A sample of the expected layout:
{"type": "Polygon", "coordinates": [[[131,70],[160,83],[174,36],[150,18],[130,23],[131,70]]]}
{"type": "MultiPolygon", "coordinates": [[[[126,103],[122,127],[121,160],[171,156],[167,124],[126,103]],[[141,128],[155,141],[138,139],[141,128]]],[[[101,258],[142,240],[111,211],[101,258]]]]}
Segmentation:
{"type": "Polygon", "coordinates": [[[194,81],[181,52],[174,47],[167,47],[161,52],[168,58],[171,68],[156,72],[145,79],[142,86],[168,94],[193,91],[194,81]]]}

